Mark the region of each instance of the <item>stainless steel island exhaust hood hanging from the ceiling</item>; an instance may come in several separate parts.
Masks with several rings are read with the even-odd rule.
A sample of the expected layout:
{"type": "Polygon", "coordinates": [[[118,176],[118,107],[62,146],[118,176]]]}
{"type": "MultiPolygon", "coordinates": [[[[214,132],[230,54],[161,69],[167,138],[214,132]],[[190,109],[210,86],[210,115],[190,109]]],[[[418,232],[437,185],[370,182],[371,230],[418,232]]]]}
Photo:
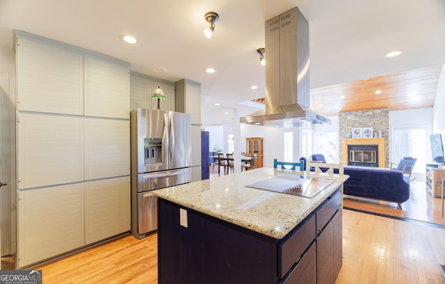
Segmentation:
{"type": "Polygon", "coordinates": [[[331,124],[310,107],[309,23],[295,7],[265,24],[266,108],[240,123],[271,127],[331,124]]]}

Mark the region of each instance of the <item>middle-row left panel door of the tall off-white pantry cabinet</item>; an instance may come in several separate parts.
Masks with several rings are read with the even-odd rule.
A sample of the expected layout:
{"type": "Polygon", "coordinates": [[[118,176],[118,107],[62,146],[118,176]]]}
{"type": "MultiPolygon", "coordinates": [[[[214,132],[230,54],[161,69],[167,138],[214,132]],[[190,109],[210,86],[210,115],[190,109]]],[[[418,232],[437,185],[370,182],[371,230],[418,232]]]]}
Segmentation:
{"type": "Polygon", "coordinates": [[[18,189],[83,181],[83,118],[18,116],[18,189]]]}

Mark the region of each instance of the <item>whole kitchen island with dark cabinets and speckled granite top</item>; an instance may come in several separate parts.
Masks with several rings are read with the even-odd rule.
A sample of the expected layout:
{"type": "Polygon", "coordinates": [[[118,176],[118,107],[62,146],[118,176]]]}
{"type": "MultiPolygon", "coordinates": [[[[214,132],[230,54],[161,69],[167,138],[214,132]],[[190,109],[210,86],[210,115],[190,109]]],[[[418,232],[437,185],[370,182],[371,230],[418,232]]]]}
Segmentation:
{"type": "Polygon", "coordinates": [[[311,198],[249,187],[282,175],[300,177],[257,168],[154,191],[159,283],[334,283],[348,177],[311,198]]]}

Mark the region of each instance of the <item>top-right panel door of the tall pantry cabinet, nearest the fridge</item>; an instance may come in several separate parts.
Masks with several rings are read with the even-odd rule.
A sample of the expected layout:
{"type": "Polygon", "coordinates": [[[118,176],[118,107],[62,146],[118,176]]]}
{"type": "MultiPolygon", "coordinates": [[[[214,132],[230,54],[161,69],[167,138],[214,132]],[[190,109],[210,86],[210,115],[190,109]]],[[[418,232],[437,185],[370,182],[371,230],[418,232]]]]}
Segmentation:
{"type": "Polygon", "coordinates": [[[92,56],[85,56],[84,65],[85,115],[129,118],[129,66],[92,56]]]}

